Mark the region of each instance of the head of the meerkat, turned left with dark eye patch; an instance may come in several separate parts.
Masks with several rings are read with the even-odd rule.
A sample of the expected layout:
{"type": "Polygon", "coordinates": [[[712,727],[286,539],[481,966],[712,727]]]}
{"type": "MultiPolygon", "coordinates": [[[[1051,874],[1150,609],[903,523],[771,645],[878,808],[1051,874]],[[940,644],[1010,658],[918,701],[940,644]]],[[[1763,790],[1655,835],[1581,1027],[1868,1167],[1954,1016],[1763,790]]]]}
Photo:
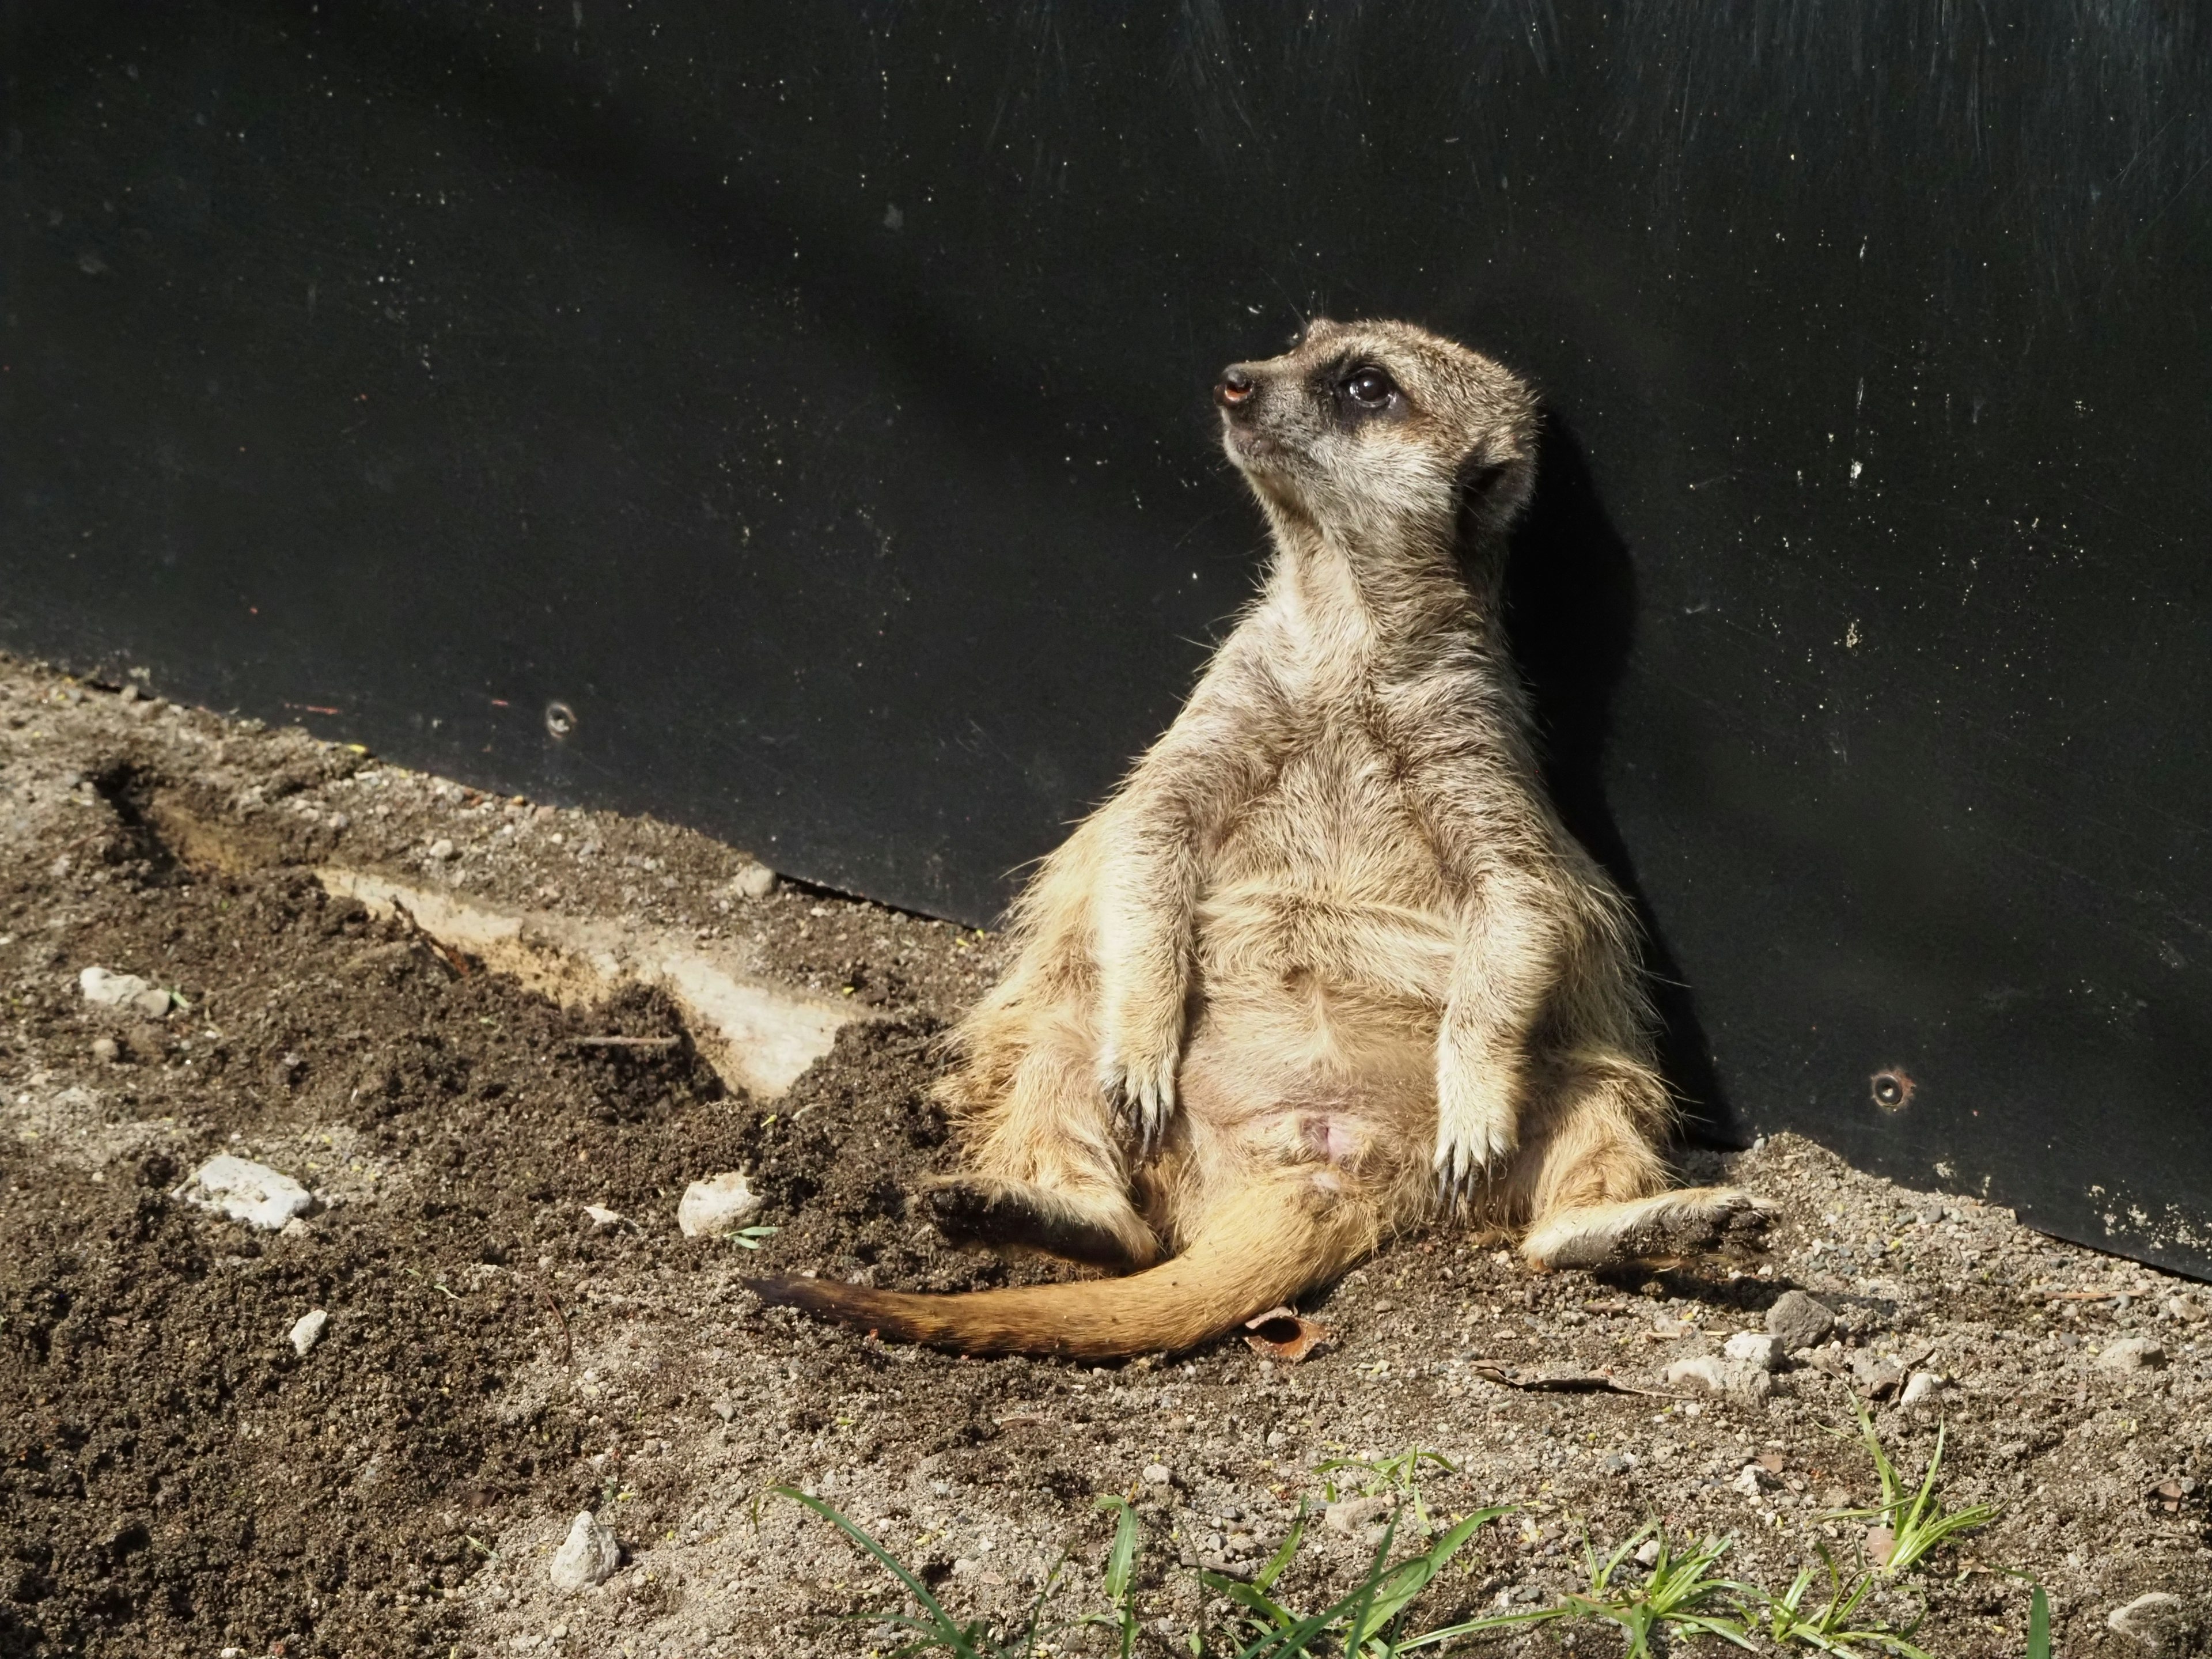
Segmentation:
{"type": "Polygon", "coordinates": [[[1354,538],[1504,531],[1535,482],[1535,394],[1411,323],[1314,321],[1214,387],[1221,442],[1272,511],[1354,538]]]}

